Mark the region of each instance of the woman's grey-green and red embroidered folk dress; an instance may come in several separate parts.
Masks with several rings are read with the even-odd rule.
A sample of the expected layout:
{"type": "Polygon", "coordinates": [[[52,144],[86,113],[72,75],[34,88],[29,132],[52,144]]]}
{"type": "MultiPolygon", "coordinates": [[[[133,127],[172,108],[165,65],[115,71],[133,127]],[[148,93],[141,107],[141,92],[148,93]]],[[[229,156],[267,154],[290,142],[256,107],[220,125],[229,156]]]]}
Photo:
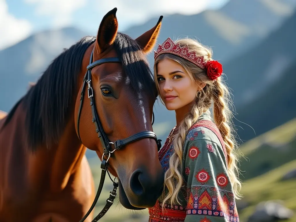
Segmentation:
{"type": "MultiPolygon", "coordinates": [[[[173,129],[159,151],[164,171],[169,168],[173,152],[171,136],[175,133],[173,129]]],[[[160,197],[149,208],[149,222],[239,221],[225,154],[221,134],[210,113],[205,112],[186,135],[182,160],[184,182],[178,194],[181,205],[163,203],[160,197]]]]}

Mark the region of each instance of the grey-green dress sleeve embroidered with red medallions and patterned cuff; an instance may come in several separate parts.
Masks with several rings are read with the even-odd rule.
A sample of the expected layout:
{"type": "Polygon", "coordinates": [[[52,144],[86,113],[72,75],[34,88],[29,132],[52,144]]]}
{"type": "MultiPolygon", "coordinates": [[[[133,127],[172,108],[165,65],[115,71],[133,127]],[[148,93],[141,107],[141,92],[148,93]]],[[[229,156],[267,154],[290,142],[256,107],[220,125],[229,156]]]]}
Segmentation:
{"type": "Polygon", "coordinates": [[[184,148],[185,222],[239,221],[220,142],[197,136],[184,148]]]}

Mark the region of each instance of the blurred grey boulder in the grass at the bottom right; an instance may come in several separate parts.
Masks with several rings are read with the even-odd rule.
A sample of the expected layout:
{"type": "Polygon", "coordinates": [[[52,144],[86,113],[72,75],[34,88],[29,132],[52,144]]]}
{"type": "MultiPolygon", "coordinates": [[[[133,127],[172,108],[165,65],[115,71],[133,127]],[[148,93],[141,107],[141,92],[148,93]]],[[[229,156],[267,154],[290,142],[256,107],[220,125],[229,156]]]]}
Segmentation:
{"type": "Polygon", "coordinates": [[[293,216],[293,211],[284,207],[282,201],[266,201],[256,206],[255,212],[248,222],[273,222],[287,220],[293,216]]]}

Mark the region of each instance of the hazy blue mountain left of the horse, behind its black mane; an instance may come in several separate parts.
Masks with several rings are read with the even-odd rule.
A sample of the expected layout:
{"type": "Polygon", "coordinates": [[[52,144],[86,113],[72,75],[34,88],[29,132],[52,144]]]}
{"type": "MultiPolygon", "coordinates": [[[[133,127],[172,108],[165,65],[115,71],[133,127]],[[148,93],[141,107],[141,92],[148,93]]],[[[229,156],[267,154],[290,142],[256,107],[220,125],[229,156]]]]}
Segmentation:
{"type": "Polygon", "coordinates": [[[86,36],[76,28],[63,28],[33,34],[25,40],[0,51],[0,110],[8,112],[36,82],[50,62],[86,36]]]}

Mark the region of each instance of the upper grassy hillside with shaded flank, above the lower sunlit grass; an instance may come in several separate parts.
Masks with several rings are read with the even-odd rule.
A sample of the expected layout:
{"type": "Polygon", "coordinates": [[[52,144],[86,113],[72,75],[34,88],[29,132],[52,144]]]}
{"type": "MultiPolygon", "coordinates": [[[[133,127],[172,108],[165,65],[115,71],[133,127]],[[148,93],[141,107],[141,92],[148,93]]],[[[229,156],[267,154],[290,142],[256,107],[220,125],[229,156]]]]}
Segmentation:
{"type": "Polygon", "coordinates": [[[247,180],[296,159],[296,118],[268,131],[240,148],[242,180],[247,180]]]}

